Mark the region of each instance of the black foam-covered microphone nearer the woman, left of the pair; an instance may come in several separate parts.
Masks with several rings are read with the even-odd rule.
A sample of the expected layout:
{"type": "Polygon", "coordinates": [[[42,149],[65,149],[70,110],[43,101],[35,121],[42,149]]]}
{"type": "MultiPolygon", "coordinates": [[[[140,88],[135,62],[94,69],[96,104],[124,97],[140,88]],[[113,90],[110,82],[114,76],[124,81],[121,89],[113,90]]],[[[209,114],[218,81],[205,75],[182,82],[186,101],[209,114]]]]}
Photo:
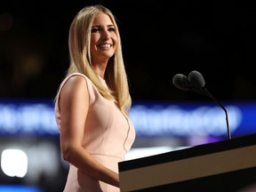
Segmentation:
{"type": "Polygon", "coordinates": [[[201,88],[198,88],[197,86],[193,86],[187,76],[184,76],[183,74],[176,74],[172,78],[172,83],[180,90],[182,91],[192,91],[197,92],[200,94],[204,94],[205,96],[208,96],[204,91],[201,90],[201,88]]]}

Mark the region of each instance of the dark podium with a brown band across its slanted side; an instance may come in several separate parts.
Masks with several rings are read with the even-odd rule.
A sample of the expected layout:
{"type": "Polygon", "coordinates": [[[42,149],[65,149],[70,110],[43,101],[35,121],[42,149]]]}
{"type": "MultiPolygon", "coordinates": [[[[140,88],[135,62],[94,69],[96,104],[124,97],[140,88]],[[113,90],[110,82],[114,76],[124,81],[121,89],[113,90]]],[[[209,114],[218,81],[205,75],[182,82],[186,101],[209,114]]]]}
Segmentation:
{"type": "Polygon", "coordinates": [[[256,191],[256,134],[118,164],[120,190],[256,191]]]}

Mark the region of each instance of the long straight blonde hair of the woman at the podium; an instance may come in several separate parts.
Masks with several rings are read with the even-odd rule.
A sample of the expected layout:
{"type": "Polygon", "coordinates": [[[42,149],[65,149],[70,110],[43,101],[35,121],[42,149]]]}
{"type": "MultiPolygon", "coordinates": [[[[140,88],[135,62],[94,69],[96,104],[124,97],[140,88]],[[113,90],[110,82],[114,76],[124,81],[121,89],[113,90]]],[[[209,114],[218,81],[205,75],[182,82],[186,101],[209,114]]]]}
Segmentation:
{"type": "Polygon", "coordinates": [[[76,14],[76,17],[71,23],[68,45],[70,65],[67,76],[75,72],[88,76],[104,98],[114,100],[117,108],[120,108],[125,115],[128,115],[132,100],[124,68],[121,37],[113,13],[100,4],[84,7],[84,9],[76,14]],[[116,52],[113,57],[108,60],[104,76],[109,90],[100,83],[99,77],[92,69],[91,62],[90,40],[92,22],[95,16],[100,12],[108,14],[116,28],[116,36],[118,38],[116,52]]]}

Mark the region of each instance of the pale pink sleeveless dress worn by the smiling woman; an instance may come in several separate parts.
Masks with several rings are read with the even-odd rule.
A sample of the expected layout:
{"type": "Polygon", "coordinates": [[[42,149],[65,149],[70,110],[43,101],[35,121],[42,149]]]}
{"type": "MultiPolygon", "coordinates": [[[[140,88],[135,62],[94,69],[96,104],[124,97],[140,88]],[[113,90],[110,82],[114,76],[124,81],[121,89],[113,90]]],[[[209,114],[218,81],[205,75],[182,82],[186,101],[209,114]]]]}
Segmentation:
{"type": "MultiPolygon", "coordinates": [[[[124,116],[116,108],[113,101],[106,100],[100,95],[92,81],[83,74],[74,73],[67,76],[60,84],[60,90],[57,93],[54,112],[55,119],[60,127],[60,108],[59,97],[63,85],[71,76],[83,76],[87,83],[89,92],[89,111],[84,125],[84,151],[89,152],[101,164],[104,164],[114,172],[118,172],[118,162],[124,161],[124,156],[132,147],[135,140],[135,130],[128,116],[124,116]]],[[[106,87],[104,79],[100,78],[102,84],[106,87]]],[[[82,104],[82,103],[81,103],[82,104]]],[[[69,164],[68,179],[64,192],[119,192],[120,189],[108,185],[100,180],[93,180],[84,172],[79,170],[73,164],[69,164]]]]}

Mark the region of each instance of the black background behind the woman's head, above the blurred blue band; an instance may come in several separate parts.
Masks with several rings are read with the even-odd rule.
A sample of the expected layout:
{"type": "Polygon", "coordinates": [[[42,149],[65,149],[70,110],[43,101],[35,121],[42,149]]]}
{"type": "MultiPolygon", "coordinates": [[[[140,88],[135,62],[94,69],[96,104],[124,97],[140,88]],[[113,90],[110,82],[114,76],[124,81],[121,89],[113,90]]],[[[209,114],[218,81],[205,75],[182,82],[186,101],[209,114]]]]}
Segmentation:
{"type": "Polygon", "coordinates": [[[68,68],[70,23],[98,3],[118,20],[133,100],[209,100],[172,84],[192,70],[219,100],[256,98],[256,9],[165,0],[2,2],[0,98],[52,100],[68,68]]]}

